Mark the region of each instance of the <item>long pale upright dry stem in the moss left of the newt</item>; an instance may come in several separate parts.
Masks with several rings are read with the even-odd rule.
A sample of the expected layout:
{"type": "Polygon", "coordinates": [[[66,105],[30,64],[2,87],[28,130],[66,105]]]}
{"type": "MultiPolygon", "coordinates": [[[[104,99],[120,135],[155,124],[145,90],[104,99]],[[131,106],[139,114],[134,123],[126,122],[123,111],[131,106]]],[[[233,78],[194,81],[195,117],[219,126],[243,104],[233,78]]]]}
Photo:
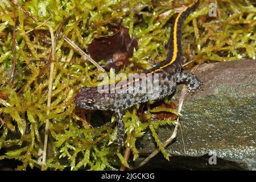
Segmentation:
{"type": "MultiPolygon", "coordinates": [[[[51,32],[51,40],[52,40],[52,60],[55,60],[55,36],[53,34],[52,27],[47,24],[49,27],[49,31],[51,32]]],[[[46,114],[49,115],[50,113],[50,106],[51,106],[51,96],[52,96],[52,82],[53,82],[53,71],[54,71],[54,62],[50,65],[50,75],[49,75],[49,86],[48,86],[48,97],[47,97],[47,111],[46,114]]],[[[46,119],[46,129],[44,133],[44,150],[43,150],[43,160],[41,170],[44,171],[46,169],[46,152],[47,152],[47,142],[48,142],[48,130],[49,130],[49,119],[46,119]]]]}

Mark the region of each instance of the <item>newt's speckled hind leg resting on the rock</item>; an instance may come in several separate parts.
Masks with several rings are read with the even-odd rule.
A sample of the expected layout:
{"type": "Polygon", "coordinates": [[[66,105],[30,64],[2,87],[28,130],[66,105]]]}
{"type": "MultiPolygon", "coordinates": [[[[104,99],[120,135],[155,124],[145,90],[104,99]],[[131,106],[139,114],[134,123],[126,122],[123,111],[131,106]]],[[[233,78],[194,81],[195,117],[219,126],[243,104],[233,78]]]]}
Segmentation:
{"type": "Polygon", "coordinates": [[[188,82],[188,91],[194,93],[196,90],[203,91],[201,86],[204,84],[192,73],[180,73],[177,75],[177,82],[188,82]]]}

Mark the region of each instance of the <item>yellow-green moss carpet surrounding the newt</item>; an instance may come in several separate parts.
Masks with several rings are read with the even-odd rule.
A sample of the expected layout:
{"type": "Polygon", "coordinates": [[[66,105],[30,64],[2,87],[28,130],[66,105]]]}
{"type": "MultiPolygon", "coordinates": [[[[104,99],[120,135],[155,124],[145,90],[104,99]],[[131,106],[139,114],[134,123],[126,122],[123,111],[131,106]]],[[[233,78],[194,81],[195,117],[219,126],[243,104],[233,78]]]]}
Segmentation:
{"type": "MultiPolygon", "coordinates": [[[[130,59],[131,65],[120,72],[141,72],[151,63],[166,58],[167,43],[171,31],[175,7],[188,5],[192,1],[18,1],[20,5],[38,19],[35,22],[14,7],[9,1],[0,1],[0,148],[6,151],[0,159],[17,159],[28,166],[39,167],[39,151],[43,149],[44,123],[50,119],[48,169],[114,170],[125,163],[117,144],[109,144],[116,134],[115,123],[92,127],[89,123],[95,113],[86,114],[86,121],[76,114],[73,97],[82,86],[98,84],[96,67],[84,61],[63,39],[56,43],[55,71],[50,114],[46,114],[51,38],[47,26],[30,31],[49,19],[56,32],[65,18],[62,32],[82,49],[86,49],[93,38],[109,35],[108,23],[121,22],[129,27],[129,34],[139,42],[139,48],[130,59]],[[39,4],[40,2],[40,4],[39,4]],[[44,9],[44,6],[47,8],[44,9]],[[16,76],[9,84],[13,65],[14,9],[16,22],[16,76]],[[159,19],[168,10],[170,14],[159,19]],[[30,32],[27,32],[30,31],[30,32]],[[66,61],[69,63],[60,63],[66,61]],[[89,117],[91,115],[92,117],[89,117]]],[[[184,68],[191,68],[205,61],[233,61],[255,59],[256,8],[249,1],[218,1],[219,17],[209,17],[209,1],[201,1],[183,26],[184,68]]],[[[100,62],[104,65],[104,61],[100,62]]],[[[132,149],[134,159],[139,154],[135,142],[144,129],[150,126],[156,143],[164,156],[168,153],[158,139],[155,129],[173,121],[142,123],[137,116],[138,106],[125,111],[126,146],[132,149]]],[[[172,110],[169,110],[172,111],[172,110]]],[[[104,122],[110,121],[108,113],[102,112],[104,122]]],[[[150,113],[148,113],[150,115],[150,113]]],[[[148,115],[147,115],[148,117],[148,115]]],[[[96,119],[97,120],[97,119],[96,119]]],[[[114,121],[114,118],[112,117],[114,121]]]]}

